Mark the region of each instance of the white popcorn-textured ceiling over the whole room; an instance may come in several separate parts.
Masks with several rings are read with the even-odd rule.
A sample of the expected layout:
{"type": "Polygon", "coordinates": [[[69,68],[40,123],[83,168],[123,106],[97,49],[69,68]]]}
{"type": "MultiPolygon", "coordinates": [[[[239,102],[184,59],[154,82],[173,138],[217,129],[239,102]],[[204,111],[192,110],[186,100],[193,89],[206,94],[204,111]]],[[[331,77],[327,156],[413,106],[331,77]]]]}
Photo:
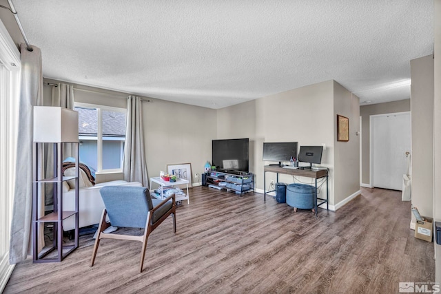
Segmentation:
{"type": "Polygon", "coordinates": [[[406,99],[433,54],[433,0],[13,3],[46,78],[214,109],[331,79],[406,99]]]}

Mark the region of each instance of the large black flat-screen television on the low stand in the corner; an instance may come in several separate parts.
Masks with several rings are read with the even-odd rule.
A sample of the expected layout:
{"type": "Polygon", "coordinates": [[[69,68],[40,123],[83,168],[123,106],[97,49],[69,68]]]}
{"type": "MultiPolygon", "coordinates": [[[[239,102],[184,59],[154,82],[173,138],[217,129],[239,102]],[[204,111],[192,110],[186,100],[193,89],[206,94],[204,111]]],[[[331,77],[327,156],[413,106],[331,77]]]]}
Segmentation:
{"type": "Polygon", "coordinates": [[[249,139],[212,141],[212,165],[218,171],[246,171],[249,169],[249,139]]]}

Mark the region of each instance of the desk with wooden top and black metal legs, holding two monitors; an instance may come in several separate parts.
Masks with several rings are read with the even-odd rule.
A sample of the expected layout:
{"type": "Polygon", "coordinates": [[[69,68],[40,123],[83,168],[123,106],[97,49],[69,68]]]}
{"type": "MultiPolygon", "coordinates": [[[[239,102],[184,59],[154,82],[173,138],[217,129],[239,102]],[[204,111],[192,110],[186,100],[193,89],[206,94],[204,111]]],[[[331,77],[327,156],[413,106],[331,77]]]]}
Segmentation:
{"type": "Polygon", "coordinates": [[[267,191],[266,189],[266,174],[267,173],[276,173],[276,182],[278,182],[278,175],[279,174],[287,174],[291,176],[304,176],[307,178],[315,178],[316,179],[316,190],[317,190],[317,179],[318,178],[326,178],[326,199],[318,198],[316,199],[316,216],[317,216],[317,207],[319,207],[321,204],[326,203],[326,209],[329,209],[329,187],[328,187],[328,171],[327,169],[320,169],[320,170],[314,170],[314,169],[284,169],[283,167],[277,167],[273,165],[265,165],[263,167],[263,201],[267,200],[267,193],[276,191],[271,190],[267,191]],[[321,200],[322,202],[318,203],[318,200],[321,200]]]}

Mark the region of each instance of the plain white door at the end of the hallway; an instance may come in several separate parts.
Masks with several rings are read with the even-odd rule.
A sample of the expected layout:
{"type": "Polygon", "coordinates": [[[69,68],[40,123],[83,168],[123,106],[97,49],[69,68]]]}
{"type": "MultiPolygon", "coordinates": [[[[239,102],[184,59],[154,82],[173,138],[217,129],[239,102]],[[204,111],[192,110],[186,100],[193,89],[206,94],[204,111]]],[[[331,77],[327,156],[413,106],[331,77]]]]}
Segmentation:
{"type": "Polygon", "coordinates": [[[406,152],[411,151],[411,114],[371,116],[371,185],[402,190],[407,174],[406,152]]]}

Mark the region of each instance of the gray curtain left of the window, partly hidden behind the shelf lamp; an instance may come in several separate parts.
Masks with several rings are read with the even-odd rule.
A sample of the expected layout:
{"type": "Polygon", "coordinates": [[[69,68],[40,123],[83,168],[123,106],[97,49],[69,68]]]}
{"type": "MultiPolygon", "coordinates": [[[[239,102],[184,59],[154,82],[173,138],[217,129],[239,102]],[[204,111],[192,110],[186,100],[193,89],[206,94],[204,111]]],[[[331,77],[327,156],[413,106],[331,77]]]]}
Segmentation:
{"type": "MultiPolygon", "coordinates": [[[[57,87],[52,86],[52,101],[50,106],[61,106],[68,109],[74,109],[74,87],[71,85],[59,83],[57,87]]],[[[63,145],[63,157],[72,156],[72,144],[63,145]]],[[[54,175],[54,149],[52,144],[45,144],[45,178],[54,175]]],[[[63,158],[63,159],[64,159],[63,158]]],[[[52,197],[53,186],[48,185],[45,189],[45,204],[53,204],[52,197]]]]}

